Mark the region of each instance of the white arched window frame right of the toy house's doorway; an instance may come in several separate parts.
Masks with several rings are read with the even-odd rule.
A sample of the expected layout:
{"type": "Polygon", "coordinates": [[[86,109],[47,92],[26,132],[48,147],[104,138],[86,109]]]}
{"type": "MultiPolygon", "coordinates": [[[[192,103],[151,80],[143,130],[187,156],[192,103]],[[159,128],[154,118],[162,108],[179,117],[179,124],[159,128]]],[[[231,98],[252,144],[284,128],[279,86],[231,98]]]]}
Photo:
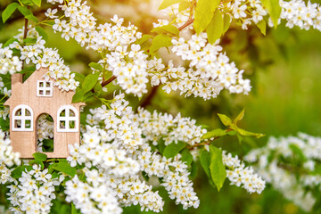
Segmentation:
{"type": "Polygon", "coordinates": [[[78,132],[79,117],[77,109],[72,105],[62,105],[57,111],[57,132],[78,132]],[[62,111],[65,111],[65,116],[60,116],[62,111]],[[75,116],[70,116],[70,111],[73,111],[75,116]],[[65,122],[65,128],[60,127],[61,121],[65,122]],[[75,128],[70,128],[70,121],[75,122],[75,128]]]}

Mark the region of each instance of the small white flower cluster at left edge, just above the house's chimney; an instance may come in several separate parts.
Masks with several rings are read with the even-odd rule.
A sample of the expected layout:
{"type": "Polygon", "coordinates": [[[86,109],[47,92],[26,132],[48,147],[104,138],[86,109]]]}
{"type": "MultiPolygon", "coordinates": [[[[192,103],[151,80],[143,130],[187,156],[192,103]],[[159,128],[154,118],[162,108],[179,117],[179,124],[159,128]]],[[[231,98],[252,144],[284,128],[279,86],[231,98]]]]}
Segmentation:
{"type": "Polygon", "coordinates": [[[12,50],[9,47],[3,47],[0,44],[0,74],[13,74],[22,70],[22,62],[18,56],[12,56],[12,50]]]}

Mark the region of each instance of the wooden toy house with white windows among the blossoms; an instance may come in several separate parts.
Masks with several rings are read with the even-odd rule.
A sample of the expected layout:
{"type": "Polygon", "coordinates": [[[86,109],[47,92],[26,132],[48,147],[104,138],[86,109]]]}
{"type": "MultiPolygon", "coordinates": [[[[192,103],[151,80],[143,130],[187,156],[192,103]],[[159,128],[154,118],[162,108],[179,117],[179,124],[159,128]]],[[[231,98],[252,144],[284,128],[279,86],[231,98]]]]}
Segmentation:
{"type": "Polygon", "coordinates": [[[37,152],[37,119],[47,113],[53,118],[53,152],[48,158],[66,158],[68,144],[80,143],[80,106],[71,103],[73,91],[62,92],[45,81],[46,69],[36,70],[22,82],[21,74],[12,75],[12,96],[4,103],[10,107],[10,138],[14,152],[33,158],[37,152]]]}

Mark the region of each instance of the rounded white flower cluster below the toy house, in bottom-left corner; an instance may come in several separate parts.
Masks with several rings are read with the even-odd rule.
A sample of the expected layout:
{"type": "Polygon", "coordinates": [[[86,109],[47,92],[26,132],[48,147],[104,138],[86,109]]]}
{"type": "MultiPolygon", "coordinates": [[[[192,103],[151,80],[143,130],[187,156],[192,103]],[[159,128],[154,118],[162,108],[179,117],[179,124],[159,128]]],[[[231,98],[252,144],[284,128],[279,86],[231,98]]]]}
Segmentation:
{"type": "Polygon", "coordinates": [[[10,210],[15,214],[49,213],[56,198],[54,185],[60,185],[58,177],[52,178],[48,169],[33,165],[32,170],[23,171],[19,180],[8,186],[10,210]]]}

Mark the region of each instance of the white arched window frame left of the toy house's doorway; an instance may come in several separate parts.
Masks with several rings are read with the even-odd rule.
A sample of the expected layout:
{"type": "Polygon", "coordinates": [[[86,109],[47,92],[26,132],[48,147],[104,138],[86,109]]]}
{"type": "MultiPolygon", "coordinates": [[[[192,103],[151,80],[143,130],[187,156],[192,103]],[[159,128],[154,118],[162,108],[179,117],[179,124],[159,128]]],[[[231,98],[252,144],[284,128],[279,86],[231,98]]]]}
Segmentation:
{"type": "Polygon", "coordinates": [[[33,131],[34,120],[33,120],[33,111],[26,104],[20,104],[14,107],[12,111],[12,131],[33,131]],[[17,111],[21,109],[21,116],[15,115],[17,111]],[[26,116],[26,110],[30,112],[30,116],[26,116]],[[21,128],[15,128],[15,121],[21,120],[21,128]],[[30,120],[30,128],[26,128],[26,120],[30,120]]]}

